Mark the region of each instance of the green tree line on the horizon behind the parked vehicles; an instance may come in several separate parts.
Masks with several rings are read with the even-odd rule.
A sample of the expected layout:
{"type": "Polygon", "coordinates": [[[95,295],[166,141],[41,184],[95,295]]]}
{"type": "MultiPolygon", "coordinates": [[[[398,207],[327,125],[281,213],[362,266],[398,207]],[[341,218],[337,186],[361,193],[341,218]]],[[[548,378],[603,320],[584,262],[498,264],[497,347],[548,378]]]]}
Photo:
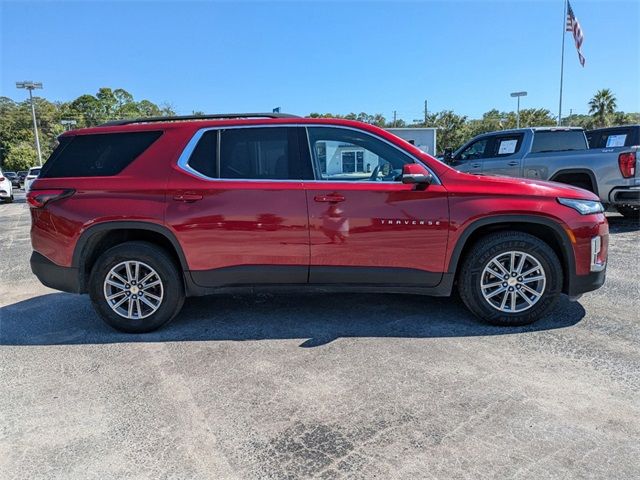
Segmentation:
{"type": "MultiPolygon", "coordinates": [[[[171,105],[157,105],[149,100],[136,101],[129,92],[117,88],[101,88],[95,95],[81,95],[71,102],[50,102],[34,97],[38,131],[43,159],[46,159],[55,147],[56,138],[65,130],[61,122],[75,122],[73,128],[96,126],[109,120],[153,116],[172,116],[175,111],[171,105]]],[[[193,112],[202,114],[202,112],[193,112]]],[[[432,127],[438,129],[438,149],[455,149],[476,135],[494,130],[516,128],[516,112],[489,110],[479,119],[470,119],[451,110],[431,113],[426,119],[406,122],[397,119],[388,120],[384,115],[349,113],[311,113],[310,118],[345,118],[370,123],[384,128],[392,127],[432,127]]],[[[608,125],[626,125],[640,123],[640,113],[625,113],[617,110],[614,94],[603,89],[596,92],[589,101],[588,115],[569,115],[562,119],[563,125],[579,126],[585,129],[608,125]]],[[[556,118],[544,108],[525,108],[520,110],[520,125],[551,126],[556,118]]],[[[15,102],[0,97],[0,165],[5,170],[26,170],[37,163],[34,147],[31,106],[28,100],[15,102]]]]}

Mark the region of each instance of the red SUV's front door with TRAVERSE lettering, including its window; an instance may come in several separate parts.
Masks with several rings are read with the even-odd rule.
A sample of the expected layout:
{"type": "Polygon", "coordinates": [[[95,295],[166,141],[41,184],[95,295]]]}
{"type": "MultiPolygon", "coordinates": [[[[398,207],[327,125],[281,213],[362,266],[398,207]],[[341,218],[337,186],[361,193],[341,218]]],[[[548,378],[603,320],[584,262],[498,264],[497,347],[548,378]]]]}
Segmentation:
{"type": "Polygon", "coordinates": [[[416,160],[367,132],[307,129],[315,180],[305,182],[316,284],[434,286],[449,226],[446,190],[401,182],[416,160]]]}

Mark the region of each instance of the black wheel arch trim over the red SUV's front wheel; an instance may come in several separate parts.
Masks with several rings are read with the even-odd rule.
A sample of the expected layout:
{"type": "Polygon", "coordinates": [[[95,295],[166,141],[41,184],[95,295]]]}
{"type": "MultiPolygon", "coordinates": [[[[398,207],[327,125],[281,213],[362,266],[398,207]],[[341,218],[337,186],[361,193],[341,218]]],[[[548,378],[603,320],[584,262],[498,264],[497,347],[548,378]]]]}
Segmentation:
{"type": "MultiPolygon", "coordinates": [[[[571,283],[572,279],[576,276],[576,260],[573,253],[573,247],[571,246],[571,240],[560,223],[552,220],[551,218],[539,215],[495,215],[475,220],[464,229],[458,238],[456,246],[453,249],[453,253],[451,254],[451,259],[449,260],[447,272],[452,274],[457,272],[462,251],[464,250],[469,237],[471,237],[475,231],[488,225],[496,225],[500,223],[535,223],[550,227],[562,246],[564,260],[566,260],[567,267],[569,269],[566,280],[571,283]]],[[[563,259],[560,260],[562,261],[563,259]]]]}

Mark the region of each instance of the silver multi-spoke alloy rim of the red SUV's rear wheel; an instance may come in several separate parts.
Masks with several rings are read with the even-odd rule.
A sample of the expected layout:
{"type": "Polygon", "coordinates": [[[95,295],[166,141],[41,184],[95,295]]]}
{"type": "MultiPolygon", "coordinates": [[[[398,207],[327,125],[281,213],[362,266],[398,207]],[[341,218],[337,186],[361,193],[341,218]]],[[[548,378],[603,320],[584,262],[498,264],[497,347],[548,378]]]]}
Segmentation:
{"type": "Polygon", "coordinates": [[[120,262],[109,270],[103,290],[111,310],[129,320],[153,315],[164,298],[164,286],[158,272],[137,260],[120,262]]]}

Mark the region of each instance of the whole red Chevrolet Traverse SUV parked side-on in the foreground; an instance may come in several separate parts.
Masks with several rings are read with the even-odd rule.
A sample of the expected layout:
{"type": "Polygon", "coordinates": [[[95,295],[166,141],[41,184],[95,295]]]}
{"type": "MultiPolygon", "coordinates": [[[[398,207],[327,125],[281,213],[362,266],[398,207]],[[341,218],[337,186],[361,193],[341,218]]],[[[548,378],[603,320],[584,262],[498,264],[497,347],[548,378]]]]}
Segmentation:
{"type": "MultiPolygon", "coordinates": [[[[598,197],[460,173],[380,128],[246,114],[67,132],[29,192],[31,268],[145,332],[239,289],[450,295],[523,325],[605,279],[598,197]]],[[[428,315],[425,312],[426,315],[428,315]]]]}

